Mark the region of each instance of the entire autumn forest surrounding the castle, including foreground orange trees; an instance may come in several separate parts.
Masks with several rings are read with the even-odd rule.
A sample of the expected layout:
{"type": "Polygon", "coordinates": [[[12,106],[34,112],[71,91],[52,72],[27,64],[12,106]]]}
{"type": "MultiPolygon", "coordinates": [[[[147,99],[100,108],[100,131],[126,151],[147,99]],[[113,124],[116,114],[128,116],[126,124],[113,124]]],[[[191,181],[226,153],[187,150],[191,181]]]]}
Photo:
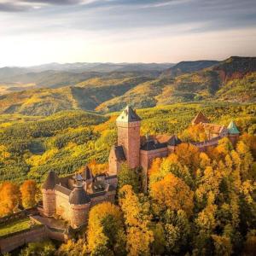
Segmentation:
{"type": "MultiPolygon", "coordinates": [[[[255,212],[255,104],[179,103],[137,109],[141,134],[177,134],[205,140],[191,120],[201,111],[211,122],[241,131],[234,148],[223,138],[201,153],[188,143],[165,159],[155,159],[148,172],[123,165],[118,174],[116,204],[92,207],[77,239],[55,244],[30,243],[20,255],[253,255],[255,212]]],[[[41,200],[47,173],[60,176],[89,164],[92,172],[108,168],[116,142],[119,113],[100,115],[81,110],[49,117],[2,115],[0,120],[0,216],[33,207],[41,200]]]]}

